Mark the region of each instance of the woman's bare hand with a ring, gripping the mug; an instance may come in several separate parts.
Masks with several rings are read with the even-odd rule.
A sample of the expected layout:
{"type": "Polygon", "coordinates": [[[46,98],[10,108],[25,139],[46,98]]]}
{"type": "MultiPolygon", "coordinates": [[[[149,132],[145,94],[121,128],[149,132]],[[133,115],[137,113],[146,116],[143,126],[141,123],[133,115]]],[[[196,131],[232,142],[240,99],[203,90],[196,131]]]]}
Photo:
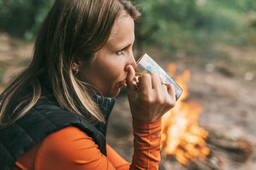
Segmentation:
{"type": "Polygon", "coordinates": [[[135,76],[132,66],[127,66],[127,72],[127,95],[133,118],[157,120],[175,106],[175,89],[172,84],[161,85],[159,76],[150,73],[139,77],[136,88],[132,83],[135,76]]]}

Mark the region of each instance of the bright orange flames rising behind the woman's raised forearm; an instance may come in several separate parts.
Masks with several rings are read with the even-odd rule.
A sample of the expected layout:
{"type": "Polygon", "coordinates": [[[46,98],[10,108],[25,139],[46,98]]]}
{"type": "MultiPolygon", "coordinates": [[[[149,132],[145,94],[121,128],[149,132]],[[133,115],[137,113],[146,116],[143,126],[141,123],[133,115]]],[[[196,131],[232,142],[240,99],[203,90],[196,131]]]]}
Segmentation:
{"type": "MultiPolygon", "coordinates": [[[[175,71],[175,64],[169,64],[168,73],[173,76],[175,71]]],[[[202,112],[200,102],[184,101],[189,96],[189,80],[189,70],[175,78],[183,93],[175,107],[163,117],[162,146],[167,155],[173,155],[181,164],[189,164],[197,158],[204,160],[210,153],[205,146],[208,132],[198,125],[202,112]]]]}

